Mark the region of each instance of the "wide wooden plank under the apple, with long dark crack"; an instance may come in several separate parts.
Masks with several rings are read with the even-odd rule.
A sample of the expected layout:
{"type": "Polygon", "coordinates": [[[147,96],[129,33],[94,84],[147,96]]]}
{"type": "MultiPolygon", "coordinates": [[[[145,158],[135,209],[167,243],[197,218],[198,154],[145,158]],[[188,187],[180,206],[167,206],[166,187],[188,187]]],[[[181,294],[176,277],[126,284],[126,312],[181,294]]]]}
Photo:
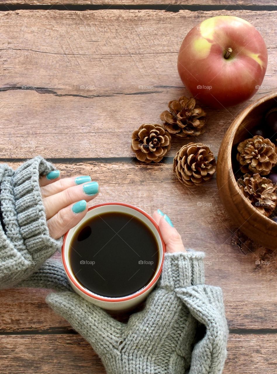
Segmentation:
{"type": "MultiPolygon", "coordinates": [[[[225,13],[252,22],[268,46],[267,75],[253,101],[277,87],[276,15],[225,13]]],[[[132,131],[142,123],[161,123],[159,114],[167,102],[187,94],[176,69],[183,37],[201,20],[219,14],[187,10],[1,12],[0,153],[6,157],[38,153],[45,157],[131,157],[132,131]]],[[[227,111],[207,109],[206,133],[198,140],[217,153],[224,132],[246,105],[227,111]]],[[[184,142],[173,139],[169,156],[184,142]]]]}

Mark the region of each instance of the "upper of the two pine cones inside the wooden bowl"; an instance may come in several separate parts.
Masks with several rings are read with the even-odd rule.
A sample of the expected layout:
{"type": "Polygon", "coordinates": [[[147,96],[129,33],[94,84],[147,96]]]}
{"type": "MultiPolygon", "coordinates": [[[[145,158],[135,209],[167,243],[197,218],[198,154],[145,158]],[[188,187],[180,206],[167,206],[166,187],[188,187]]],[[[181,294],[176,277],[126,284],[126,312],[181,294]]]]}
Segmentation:
{"type": "Polygon", "coordinates": [[[252,171],[260,175],[267,175],[277,162],[275,145],[260,135],[246,139],[237,147],[237,160],[243,173],[252,171]]]}

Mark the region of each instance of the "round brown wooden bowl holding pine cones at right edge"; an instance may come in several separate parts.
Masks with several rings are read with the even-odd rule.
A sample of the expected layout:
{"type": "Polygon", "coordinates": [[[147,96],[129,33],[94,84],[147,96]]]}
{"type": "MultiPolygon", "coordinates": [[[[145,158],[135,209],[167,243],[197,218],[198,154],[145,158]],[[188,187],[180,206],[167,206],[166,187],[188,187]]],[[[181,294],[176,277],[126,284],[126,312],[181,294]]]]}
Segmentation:
{"type": "Polygon", "coordinates": [[[218,192],[228,215],[245,235],[270,249],[277,248],[277,223],[260,213],[240,191],[232,168],[232,148],[251,138],[249,131],[262,122],[268,110],[277,106],[276,98],[277,92],[271,93],[238,114],[221,142],[216,167],[218,192]]]}

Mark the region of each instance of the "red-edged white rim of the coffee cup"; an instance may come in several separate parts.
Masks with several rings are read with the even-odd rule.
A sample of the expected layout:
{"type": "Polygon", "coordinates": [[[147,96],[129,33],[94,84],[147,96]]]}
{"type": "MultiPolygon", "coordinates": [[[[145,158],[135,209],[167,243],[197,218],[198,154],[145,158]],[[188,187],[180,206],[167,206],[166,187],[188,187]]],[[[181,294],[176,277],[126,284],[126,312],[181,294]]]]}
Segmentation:
{"type": "Polygon", "coordinates": [[[90,207],[87,211],[89,212],[92,209],[99,208],[100,206],[104,206],[104,205],[121,205],[121,206],[127,206],[127,208],[134,209],[134,210],[140,212],[141,214],[143,214],[154,225],[154,227],[156,228],[156,230],[158,232],[158,235],[160,236],[161,245],[162,245],[162,258],[161,258],[160,266],[158,268],[158,271],[157,271],[155,277],[144,288],[140,289],[139,291],[137,291],[137,292],[135,292],[135,293],[133,293],[131,295],[127,295],[127,296],[123,296],[123,297],[104,297],[104,296],[100,296],[100,295],[97,295],[97,294],[92,294],[92,293],[86,291],[86,289],[83,289],[83,288],[80,287],[80,283],[77,282],[76,279],[71,275],[70,271],[68,270],[66,261],[65,261],[65,242],[66,242],[68,233],[72,229],[68,230],[68,232],[65,233],[65,235],[64,235],[64,239],[63,239],[63,243],[62,243],[62,249],[61,249],[62,264],[64,266],[65,273],[67,274],[67,276],[70,279],[70,281],[83,294],[85,294],[85,295],[87,295],[87,296],[89,296],[89,297],[91,297],[93,299],[100,300],[100,301],[106,301],[106,302],[110,302],[110,303],[132,300],[133,298],[138,297],[139,295],[144,294],[146,291],[148,291],[148,289],[150,289],[157,282],[158,278],[161,275],[161,270],[163,269],[164,254],[166,252],[166,247],[165,247],[163,238],[161,236],[161,232],[160,232],[160,229],[158,227],[158,224],[156,223],[156,221],[154,221],[154,219],[151,217],[150,214],[148,214],[147,212],[145,212],[144,210],[138,208],[135,205],[131,205],[131,204],[127,204],[127,203],[120,203],[120,202],[111,202],[111,203],[97,204],[97,205],[94,205],[94,206],[90,207]]]}

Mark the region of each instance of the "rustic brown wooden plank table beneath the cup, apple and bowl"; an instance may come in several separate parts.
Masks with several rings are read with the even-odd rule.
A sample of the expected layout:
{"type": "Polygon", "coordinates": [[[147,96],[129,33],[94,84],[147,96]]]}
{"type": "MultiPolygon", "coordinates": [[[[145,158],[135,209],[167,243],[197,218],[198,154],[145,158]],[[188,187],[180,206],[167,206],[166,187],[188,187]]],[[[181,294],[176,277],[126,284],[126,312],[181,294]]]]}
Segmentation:
{"type": "MultiPolygon", "coordinates": [[[[1,162],[16,168],[41,154],[63,177],[92,175],[101,186],[98,203],[161,208],[185,246],[206,252],[206,282],[224,290],[230,327],[224,373],[277,373],[276,251],[236,231],[215,178],[190,189],[176,180],[172,160],[185,141],[174,140],[158,165],[137,162],[130,149],[133,130],[160,123],[167,102],[187,94],[176,69],[178,50],[205,18],[236,15],[258,28],[269,61],[250,102],[276,90],[277,1],[7,1],[0,3],[1,162]]],[[[207,109],[199,141],[217,154],[247,104],[207,109]]],[[[89,344],[47,307],[46,294],[0,292],[0,373],[105,373],[89,344]]]]}

